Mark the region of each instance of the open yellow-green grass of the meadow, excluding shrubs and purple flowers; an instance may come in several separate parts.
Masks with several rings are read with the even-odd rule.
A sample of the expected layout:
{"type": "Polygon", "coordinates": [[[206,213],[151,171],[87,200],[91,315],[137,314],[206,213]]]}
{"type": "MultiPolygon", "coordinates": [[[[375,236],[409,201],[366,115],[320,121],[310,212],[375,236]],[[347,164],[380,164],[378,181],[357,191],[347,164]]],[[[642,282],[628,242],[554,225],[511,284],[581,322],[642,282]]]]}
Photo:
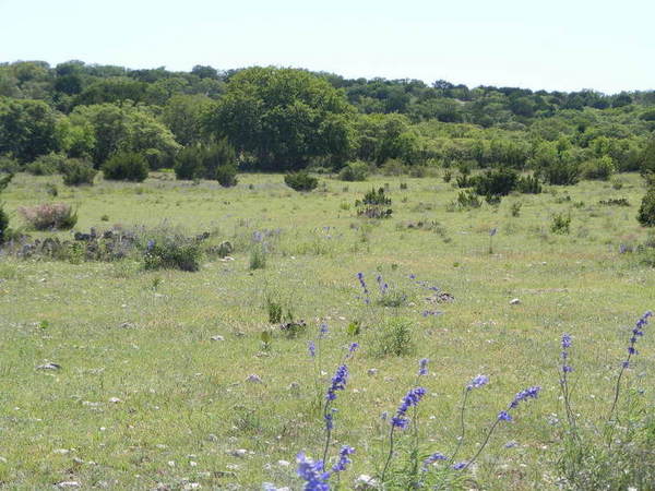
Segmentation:
{"type": "MultiPolygon", "coordinates": [[[[425,452],[452,452],[462,388],[478,373],[490,383],[472,394],[462,458],[516,392],[540,385],[540,397],[499,428],[471,477],[485,489],[556,489],[560,336],[573,336],[576,408],[602,415],[627,327],[655,304],[655,270],[619,254],[620,244],[646,239],[635,220],[644,193],[635,175],[619,176],[621,189],[585,181],[471,211],[449,211],[458,190],[437,178],[322,178],[321,189],[303,194],[276,175],[240,176],[227,190],[168,173],[82,189],[57,179],[14,179],[2,195],[12,226],[20,225],[20,205],[56,200],[78,206],[76,230],[166,224],[189,235],[211,231],[212,240],[235,244],[234,261],[205,259],[200,272],[184,273],[146,272],[134,260],[0,259],[0,481],[8,489],[62,481],[84,489],[300,489],[297,452],[322,454],[317,391],[322,397],[352,342],[360,349],[335,402],[331,451],[334,458],[341,444],[356,448],[341,477],[345,489],[360,474],[381,470],[389,428],[381,415],[395,410],[424,357],[425,452]],[[56,199],[48,182],[58,183],[56,199]],[[385,184],[393,217],[358,218],[355,200],[385,184]],[[630,206],[598,203],[609,197],[630,206]],[[519,216],[511,213],[515,203],[519,216]],[[558,213],[570,214],[570,233],[551,232],[558,213]],[[265,268],[253,271],[255,231],[269,231],[269,252],[265,268]],[[359,272],[371,306],[362,301],[359,272]],[[379,306],[378,274],[407,301],[379,306]],[[454,301],[428,300],[432,291],[409,275],[454,301]],[[264,349],[267,298],[308,327],[296,338],[275,331],[264,349]],[[426,310],[441,314],[424,316],[426,310]],[[381,333],[393,319],[412,326],[410,352],[381,357],[381,333]],[[347,332],[353,321],[362,325],[357,336],[347,332]],[[323,322],[330,334],[319,340],[323,322]],[[314,360],[309,340],[318,344],[314,360]],[[47,362],[61,369],[36,369],[47,362]],[[248,381],[252,374],[261,383],[248,381]],[[505,447],[511,441],[516,445],[505,447]]],[[[626,382],[643,388],[652,408],[653,379],[644,376],[655,368],[650,334],[626,382]]]]}

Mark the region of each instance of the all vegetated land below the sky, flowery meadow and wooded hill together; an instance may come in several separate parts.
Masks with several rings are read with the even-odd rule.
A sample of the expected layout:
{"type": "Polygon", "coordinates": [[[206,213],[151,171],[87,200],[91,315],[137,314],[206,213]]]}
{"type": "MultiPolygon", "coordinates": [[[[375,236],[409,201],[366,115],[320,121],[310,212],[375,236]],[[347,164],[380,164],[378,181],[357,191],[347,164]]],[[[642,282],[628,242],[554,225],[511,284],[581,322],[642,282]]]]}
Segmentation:
{"type": "Polygon", "coordinates": [[[0,65],[0,481],[650,489],[653,107],[0,65]]]}

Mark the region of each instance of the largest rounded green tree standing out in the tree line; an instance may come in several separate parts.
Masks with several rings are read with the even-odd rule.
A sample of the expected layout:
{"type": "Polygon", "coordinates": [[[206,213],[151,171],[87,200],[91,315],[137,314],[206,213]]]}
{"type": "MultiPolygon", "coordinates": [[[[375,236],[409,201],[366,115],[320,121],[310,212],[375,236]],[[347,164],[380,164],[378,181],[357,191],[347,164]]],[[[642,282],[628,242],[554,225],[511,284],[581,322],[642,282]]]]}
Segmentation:
{"type": "Polygon", "coordinates": [[[293,69],[251,68],[230,77],[207,130],[252,154],[263,169],[297,169],[317,157],[343,163],[352,109],[325,80],[293,69]]]}

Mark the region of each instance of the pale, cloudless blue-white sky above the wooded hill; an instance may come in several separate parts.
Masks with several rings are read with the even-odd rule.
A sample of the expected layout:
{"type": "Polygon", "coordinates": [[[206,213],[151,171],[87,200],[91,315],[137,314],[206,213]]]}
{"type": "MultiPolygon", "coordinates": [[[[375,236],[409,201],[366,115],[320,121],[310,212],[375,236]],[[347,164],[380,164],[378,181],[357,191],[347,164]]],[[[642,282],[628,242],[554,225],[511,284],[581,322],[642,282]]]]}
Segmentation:
{"type": "Polygon", "coordinates": [[[655,0],[0,0],[0,61],[655,88],[655,0]]]}

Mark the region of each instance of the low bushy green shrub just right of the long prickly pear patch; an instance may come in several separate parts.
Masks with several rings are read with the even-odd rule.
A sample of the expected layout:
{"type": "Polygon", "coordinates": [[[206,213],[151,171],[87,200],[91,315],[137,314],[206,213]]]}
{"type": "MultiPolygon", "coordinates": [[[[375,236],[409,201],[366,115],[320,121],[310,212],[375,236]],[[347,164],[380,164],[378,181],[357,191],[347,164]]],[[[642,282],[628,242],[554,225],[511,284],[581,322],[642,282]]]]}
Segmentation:
{"type": "Polygon", "coordinates": [[[151,240],[144,254],[146,270],[181,270],[195,272],[200,270],[202,250],[196,241],[174,236],[159,240],[151,240]]]}

